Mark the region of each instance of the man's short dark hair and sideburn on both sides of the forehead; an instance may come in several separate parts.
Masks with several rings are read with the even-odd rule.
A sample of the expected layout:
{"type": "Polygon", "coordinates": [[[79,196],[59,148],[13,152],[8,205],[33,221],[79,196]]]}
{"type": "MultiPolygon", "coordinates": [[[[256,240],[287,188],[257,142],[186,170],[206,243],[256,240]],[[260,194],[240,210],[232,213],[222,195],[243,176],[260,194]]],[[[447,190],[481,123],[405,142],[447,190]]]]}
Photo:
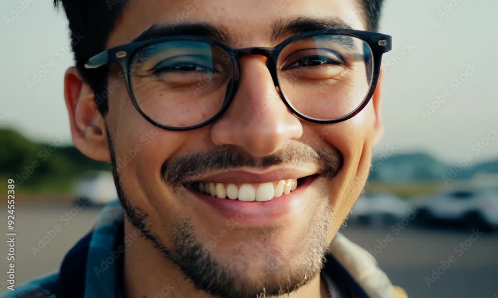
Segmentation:
{"type": "MultiPolygon", "coordinates": [[[[377,31],[384,0],[360,0],[365,13],[367,28],[377,31]]],[[[106,115],[108,93],[108,67],[86,69],[85,63],[93,55],[106,49],[109,35],[128,0],[54,0],[66,12],[71,30],[71,41],[78,68],[83,79],[92,87],[99,112],[106,115]]]]}

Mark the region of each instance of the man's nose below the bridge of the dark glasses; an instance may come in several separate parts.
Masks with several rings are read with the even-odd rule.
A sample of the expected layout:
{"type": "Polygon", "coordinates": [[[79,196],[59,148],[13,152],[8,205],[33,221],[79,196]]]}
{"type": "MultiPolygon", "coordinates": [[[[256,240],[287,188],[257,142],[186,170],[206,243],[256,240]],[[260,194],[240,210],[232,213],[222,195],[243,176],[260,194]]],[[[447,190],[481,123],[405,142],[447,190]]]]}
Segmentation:
{"type": "Polygon", "coordinates": [[[216,145],[234,145],[256,158],[275,153],[302,136],[300,120],[275,89],[266,57],[242,58],[240,78],[231,106],[211,128],[216,145]]]}

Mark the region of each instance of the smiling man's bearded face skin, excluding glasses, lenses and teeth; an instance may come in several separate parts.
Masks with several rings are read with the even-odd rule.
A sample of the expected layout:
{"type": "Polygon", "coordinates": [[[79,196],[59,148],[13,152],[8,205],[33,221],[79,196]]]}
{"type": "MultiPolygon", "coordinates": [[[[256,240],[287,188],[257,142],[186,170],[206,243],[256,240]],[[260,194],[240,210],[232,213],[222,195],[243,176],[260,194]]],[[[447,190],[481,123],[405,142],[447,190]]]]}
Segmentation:
{"type": "MultiPolygon", "coordinates": [[[[233,48],[273,47],[289,36],[271,41],[272,24],[296,16],[336,16],[365,30],[358,7],[355,0],[131,0],[108,47],[131,42],[153,24],[187,22],[224,28],[233,48]]],[[[122,82],[117,73],[110,85],[115,80],[122,82]]],[[[121,84],[110,95],[106,123],[127,215],[136,226],[144,223],[142,232],[202,290],[231,289],[239,297],[290,292],[320,272],[363,189],[378,133],[375,109],[370,101],[338,124],[301,120],[279,100],[265,58],[252,55],[241,60],[240,86],[225,114],[175,132],[147,122],[121,84]],[[280,180],[296,178],[290,193],[257,200],[268,199],[280,180]],[[254,192],[256,200],[201,193],[213,188],[209,183],[221,183],[218,194],[234,184],[240,197],[254,192]]]]}

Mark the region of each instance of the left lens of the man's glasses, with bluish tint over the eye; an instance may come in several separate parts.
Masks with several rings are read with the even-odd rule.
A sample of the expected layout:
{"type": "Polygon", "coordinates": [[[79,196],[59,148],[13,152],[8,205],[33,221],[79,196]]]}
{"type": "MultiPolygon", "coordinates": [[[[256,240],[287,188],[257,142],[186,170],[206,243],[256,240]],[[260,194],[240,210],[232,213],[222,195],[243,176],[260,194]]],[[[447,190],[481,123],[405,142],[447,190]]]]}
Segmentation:
{"type": "Polygon", "coordinates": [[[171,127],[201,124],[225,101],[234,66],[220,47],[203,41],[165,41],[142,48],[130,65],[140,110],[171,127]]]}

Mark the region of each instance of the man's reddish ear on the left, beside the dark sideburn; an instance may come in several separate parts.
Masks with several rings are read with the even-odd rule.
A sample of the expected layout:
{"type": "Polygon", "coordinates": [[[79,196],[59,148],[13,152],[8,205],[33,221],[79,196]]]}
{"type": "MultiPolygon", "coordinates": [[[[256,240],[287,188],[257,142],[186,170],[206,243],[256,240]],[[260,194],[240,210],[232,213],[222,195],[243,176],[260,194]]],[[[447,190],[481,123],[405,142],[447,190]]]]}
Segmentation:
{"type": "Polygon", "coordinates": [[[92,159],[111,162],[105,119],[92,88],[74,66],[64,75],[64,97],[75,147],[92,159]]]}

